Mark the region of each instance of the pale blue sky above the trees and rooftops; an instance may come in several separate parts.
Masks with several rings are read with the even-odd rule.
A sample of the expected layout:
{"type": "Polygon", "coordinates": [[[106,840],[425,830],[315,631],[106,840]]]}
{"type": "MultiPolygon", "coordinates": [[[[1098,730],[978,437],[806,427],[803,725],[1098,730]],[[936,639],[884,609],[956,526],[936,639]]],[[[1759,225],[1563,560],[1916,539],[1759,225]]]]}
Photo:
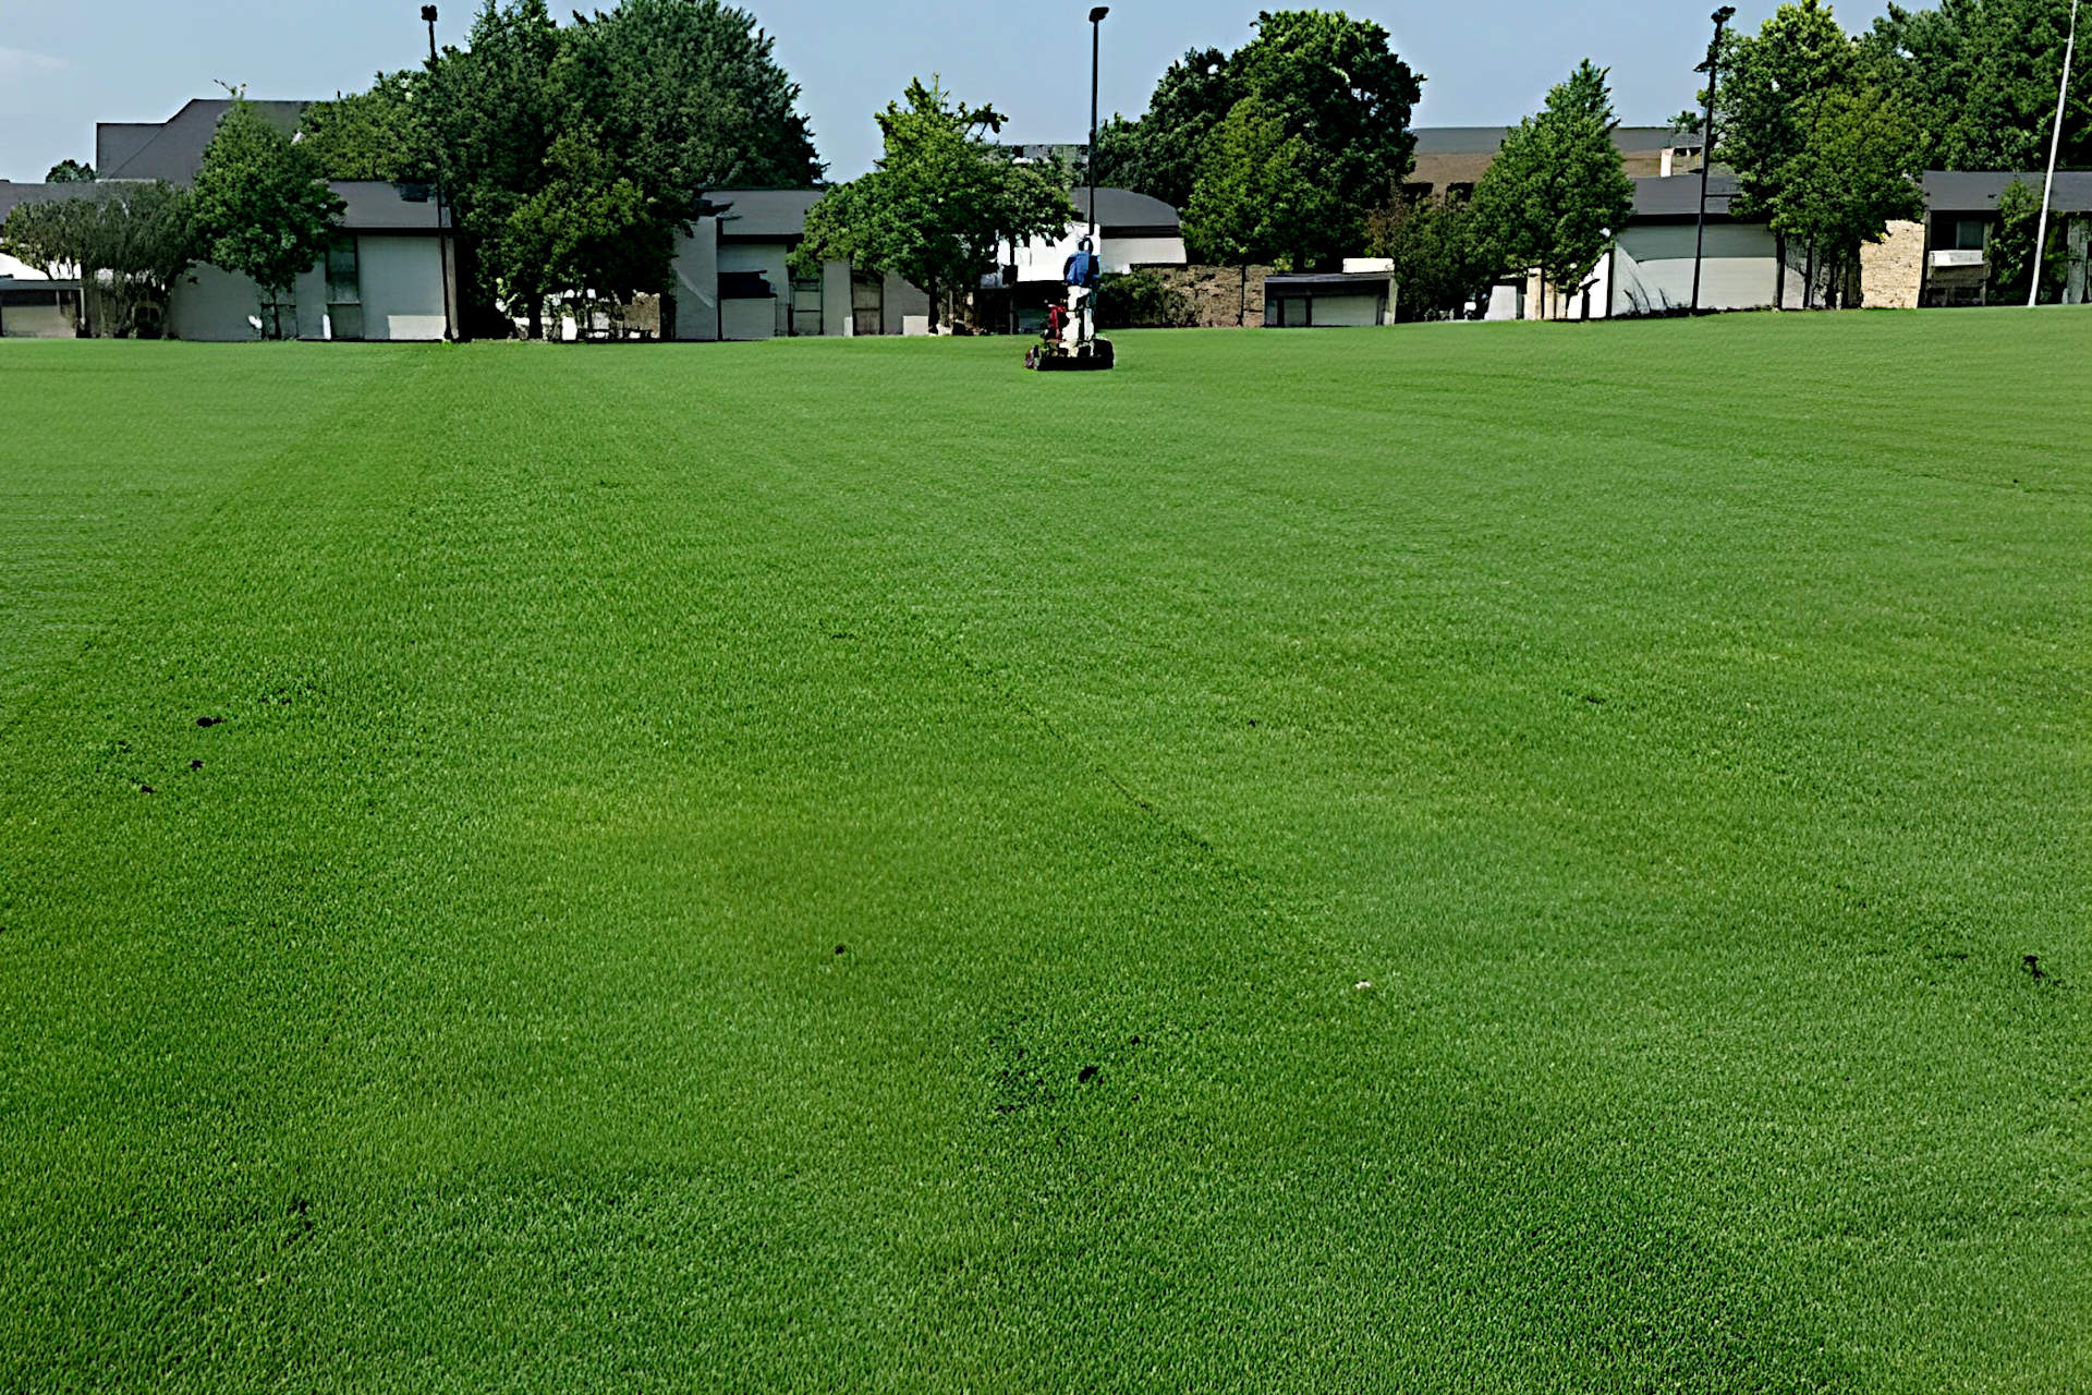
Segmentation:
{"type": "MultiPolygon", "coordinates": [[[[609,0],[598,0],[605,8],[609,0]]],[[[441,0],[437,33],[462,42],[477,4],[441,0]]],[[[554,2],[565,17],[573,6],[554,2]]],[[[586,8],[596,8],[590,4],[586,8]]],[[[805,88],[803,111],[831,178],[879,153],[872,111],[914,73],[941,73],[967,100],[1008,111],[1013,140],[1079,140],[1088,125],[1088,2],[851,0],[745,4],[778,40],[805,88]]],[[[1121,0],[1105,21],[1105,111],[1138,113],[1172,59],[1234,48],[1278,0],[1121,0]]],[[[1337,6],[1333,6],[1337,8],[1337,6]]],[[[1494,125],[1540,105],[1586,54],[1613,69],[1623,121],[1659,123],[1692,100],[1707,46],[1705,2],[1379,0],[1341,4],[1387,25],[1425,73],[1425,125],[1494,125]]],[[[1774,0],[1738,4],[1757,25],[1774,0]]],[[[1841,6],[1864,27],[1879,2],[1841,6]]],[[[159,121],[213,79],[251,96],[333,96],[425,54],[420,0],[0,0],[0,178],[40,180],[61,159],[92,159],[96,121],[159,121]]]]}

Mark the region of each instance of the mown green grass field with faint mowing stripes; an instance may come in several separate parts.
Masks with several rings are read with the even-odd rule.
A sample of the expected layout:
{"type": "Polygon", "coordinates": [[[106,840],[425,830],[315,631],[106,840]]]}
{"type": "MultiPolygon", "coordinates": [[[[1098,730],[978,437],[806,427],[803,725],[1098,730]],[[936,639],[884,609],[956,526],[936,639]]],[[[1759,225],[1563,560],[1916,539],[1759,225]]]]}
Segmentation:
{"type": "Polygon", "coordinates": [[[2092,1389],[2092,314],[1019,353],[0,345],[0,1391],[2092,1389]]]}

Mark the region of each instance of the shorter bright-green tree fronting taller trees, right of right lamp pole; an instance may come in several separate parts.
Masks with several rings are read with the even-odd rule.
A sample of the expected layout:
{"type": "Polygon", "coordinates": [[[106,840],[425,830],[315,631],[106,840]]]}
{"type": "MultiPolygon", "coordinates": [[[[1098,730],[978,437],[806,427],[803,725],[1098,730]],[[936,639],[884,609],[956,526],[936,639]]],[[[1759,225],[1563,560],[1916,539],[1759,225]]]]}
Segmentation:
{"type": "Polygon", "coordinates": [[[1833,90],[1768,203],[1772,232],[1807,241],[1830,268],[1837,297],[1864,243],[1879,243],[1893,220],[1925,215],[1920,169],[1918,130],[1902,98],[1872,86],[1833,90]]]}

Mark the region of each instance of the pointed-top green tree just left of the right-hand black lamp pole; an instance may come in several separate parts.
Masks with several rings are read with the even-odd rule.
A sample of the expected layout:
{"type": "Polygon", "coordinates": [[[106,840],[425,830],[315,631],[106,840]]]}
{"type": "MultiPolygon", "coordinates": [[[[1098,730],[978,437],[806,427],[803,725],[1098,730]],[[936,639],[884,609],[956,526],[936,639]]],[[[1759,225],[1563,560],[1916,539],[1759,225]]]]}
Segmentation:
{"type": "Polygon", "coordinates": [[[1538,270],[1542,297],[1590,276],[1634,211],[1615,125],[1607,69],[1584,59],[1548,92],[1546,109],[1504,138],[1473,205],[1475,238],[1496,272],[1538,270]]]}

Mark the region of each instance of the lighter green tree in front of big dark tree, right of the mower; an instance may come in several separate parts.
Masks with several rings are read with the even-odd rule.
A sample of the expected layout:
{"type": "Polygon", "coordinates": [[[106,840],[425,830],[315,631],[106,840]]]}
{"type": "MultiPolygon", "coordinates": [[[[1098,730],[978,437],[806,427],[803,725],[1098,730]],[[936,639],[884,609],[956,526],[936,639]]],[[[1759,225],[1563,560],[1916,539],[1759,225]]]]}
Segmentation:
{"type": "Polygon", "coordinates": [[[1257,96],[1245,96],[1207,140],[1184,243],[1203,261],[1303,268],[1328,243],[1335,199],[1312,174],[1301,136],[1257,96]]]}

